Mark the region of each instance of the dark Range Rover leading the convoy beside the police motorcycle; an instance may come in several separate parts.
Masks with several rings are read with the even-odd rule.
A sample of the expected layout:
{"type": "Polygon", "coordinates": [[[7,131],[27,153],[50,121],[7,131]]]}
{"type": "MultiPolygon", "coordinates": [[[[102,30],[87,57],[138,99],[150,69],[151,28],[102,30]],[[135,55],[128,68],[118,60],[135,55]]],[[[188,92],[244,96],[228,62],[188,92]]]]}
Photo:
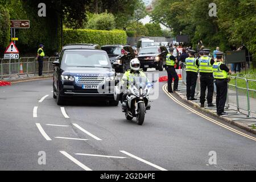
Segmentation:
{"type": "Polygon", "coordinates": [[[53,62],[53,98],[63,105],[65,98],[86,97],[114,101],[115,71],[106,51],[92,46],[64,46],[53,62]]]}

